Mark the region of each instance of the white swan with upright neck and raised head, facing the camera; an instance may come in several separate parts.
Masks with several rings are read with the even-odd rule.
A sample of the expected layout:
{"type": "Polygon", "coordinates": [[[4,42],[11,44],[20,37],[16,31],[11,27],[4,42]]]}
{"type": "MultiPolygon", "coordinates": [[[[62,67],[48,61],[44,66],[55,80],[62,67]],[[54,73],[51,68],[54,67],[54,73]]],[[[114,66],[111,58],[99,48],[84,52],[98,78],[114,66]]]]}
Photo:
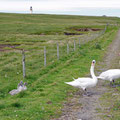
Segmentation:
{"type": "Polygon", "coordinates": [[[95,60],[92,61],[90,68],[90,73],[92,78],[78,78],[78,79],[74,79],[74,81],[72,82],[65,82],[65,83],[73,87],[82,88],[84,90],[84,95],[88,95],[86,88],[96,86],[98,81],[97,77],[94,74],[94,66],[95,66],[95,60]]]}

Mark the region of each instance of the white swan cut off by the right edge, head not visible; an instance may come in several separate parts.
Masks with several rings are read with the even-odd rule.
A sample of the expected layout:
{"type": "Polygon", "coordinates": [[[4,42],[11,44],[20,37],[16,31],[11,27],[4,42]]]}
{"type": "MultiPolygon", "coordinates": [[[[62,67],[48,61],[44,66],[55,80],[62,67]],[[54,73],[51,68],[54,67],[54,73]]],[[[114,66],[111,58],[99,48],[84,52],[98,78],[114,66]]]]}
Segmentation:
{"type": "Polygon", "coordinates": [[[114,80],[120,78],[120,69],[110,69],[105,72],[102,72],[97,78],[102,80],[109,80],[110,85],[114,83],[114,80]]]}

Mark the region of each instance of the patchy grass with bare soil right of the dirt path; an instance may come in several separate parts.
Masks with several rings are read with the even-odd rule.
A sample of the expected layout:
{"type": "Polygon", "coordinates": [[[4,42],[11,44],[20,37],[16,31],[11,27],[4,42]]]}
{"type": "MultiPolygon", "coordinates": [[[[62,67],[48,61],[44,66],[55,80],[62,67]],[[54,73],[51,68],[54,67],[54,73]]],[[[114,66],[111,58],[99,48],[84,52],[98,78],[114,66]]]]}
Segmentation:
{"type": "MultiPolygon", "coordinates": [[[[119,69],[118,62],[119,59],[115,61],[113,66],[119,69]]],[[[115,81],[115,85],[120,85],[120,79],[115,81]]],[[[104,108],[99,111],[103,113],[101,118],[103,120],[120,120],[120,86],[112,89],[111,87],[107,87],[107,89],[108,92],[100,98],[101,107],[104,108]]]]}

